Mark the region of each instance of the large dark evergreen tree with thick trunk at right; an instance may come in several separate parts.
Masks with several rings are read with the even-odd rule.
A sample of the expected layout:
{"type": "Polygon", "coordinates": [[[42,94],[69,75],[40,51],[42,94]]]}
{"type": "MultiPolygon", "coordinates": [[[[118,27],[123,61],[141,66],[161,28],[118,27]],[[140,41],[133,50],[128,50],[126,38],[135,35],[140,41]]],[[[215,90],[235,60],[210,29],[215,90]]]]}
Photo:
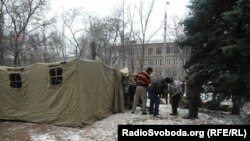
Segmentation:
{"type": "MultiPolygon", "coordinates": [[[[235,103],[239,103],[242,97],[248,98],[250,2],[191,0],[189,8],[190,16],[183,21],[186,39],[180,42],[181,46],[191,47],[191,58],[184,66],[191,70],[188,82],[196,81],[191,76],[200,72],[202,79],[196,81],[196,90],[201,90],[202,85],[210,81],[215,88],[214,94],[220,94],[220,97],[233,95],[235,103]]],[[[193,97],[199,97],[199,94],[193,94],[193,90],[189,95],[191,101],[193,97]]],[[[238,113],[235,114],[239,114],[237,107],[238,113]]],[[[189,113],[189,116],[197,115],[189,113]]]]}

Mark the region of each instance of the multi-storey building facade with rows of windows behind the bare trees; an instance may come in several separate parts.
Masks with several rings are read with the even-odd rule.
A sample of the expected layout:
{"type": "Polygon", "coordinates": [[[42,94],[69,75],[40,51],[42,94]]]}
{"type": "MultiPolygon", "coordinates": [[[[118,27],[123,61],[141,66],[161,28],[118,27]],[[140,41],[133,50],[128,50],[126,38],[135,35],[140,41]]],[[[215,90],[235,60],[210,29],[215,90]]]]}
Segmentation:
{"type": "Polygon", "coordinates": [[[176,80],[184,80],[184,63],[189,57],[187,48],[180,48],[174,42],[166,43],[164,56],[164,43],[151,43],[143,46],[140,44],[116,46],[118,57],[115,65],[122,69],[127,67],[131,73],[145,70],[147,67],[154,69],[152,77],[173,77],[176,80]],[[142,59],[144,52],[144,60],[142,59]],[[164,58],[166,61],[164,63],[164,58]],[[143,63],[143,67],[142,66],[143,63]],[[164,74],[165,72],[165,74],[164,74]]]}

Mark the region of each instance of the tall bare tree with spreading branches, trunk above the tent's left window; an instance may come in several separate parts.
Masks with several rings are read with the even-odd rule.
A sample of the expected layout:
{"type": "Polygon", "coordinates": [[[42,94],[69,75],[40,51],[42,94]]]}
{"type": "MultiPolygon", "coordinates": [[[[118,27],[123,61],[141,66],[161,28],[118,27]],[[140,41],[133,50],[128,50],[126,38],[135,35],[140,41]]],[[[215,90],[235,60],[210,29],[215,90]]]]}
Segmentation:
{"type": "Polygon", "coordinates": [[[13,65],[20,64],[20,55],[24,48],[26,35],[45,24],[42,12],[47,6],[46,0],[6,0],[3,4],[8,15],[9,47],[14,56],[13,65]]]}

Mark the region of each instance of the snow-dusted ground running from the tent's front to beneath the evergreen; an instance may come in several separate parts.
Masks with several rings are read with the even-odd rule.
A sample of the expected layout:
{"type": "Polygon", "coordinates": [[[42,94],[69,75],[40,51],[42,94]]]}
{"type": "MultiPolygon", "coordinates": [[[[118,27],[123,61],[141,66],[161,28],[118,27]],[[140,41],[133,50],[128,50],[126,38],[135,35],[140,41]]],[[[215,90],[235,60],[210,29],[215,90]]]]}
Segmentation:
{"type": "MultiPolygon", "coordinates": [[[[249,106],[249,105],[248,105],[249,106]]],[[[117,140],[118,125],[243,125],[247,112],[230,115],[228,112],[200,110],[198,119],[184,119],[187,109],[178,109],[178,116],[170,116],[170,104],[160,104],[160,116],[141,115],[137,107],[135,114],[130,110],[118,113],[84,128],[58,127],[23,122],[0,122],[1,141],[114,141],[117,140]]],[[[249,108],[247,109],[249,111],[249,108]]]]}

